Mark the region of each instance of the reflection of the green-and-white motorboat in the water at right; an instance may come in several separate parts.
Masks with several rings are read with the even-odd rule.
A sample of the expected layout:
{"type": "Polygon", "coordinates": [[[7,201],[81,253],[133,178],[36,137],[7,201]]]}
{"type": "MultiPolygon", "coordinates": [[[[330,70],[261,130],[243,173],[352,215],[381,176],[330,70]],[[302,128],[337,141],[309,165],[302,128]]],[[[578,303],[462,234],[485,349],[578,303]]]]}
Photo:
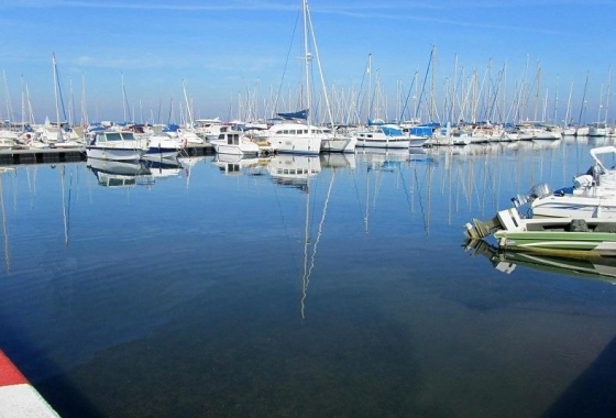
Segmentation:
{"type": "Polygon", "coordinates": [[[483,255],[499,272],[510,274],[517,266],[574,277],[594,278],[616,284],[616,257],[560,257],[553,255],[507,251],[484,240],[466,240],[464,250],[483,255]]]}

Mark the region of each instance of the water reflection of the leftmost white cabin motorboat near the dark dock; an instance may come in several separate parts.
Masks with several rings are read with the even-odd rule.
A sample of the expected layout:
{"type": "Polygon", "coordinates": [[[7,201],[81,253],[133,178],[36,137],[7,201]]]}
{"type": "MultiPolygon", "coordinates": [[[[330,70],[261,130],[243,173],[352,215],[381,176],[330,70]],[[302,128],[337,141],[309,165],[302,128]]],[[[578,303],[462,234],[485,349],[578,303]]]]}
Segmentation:
{"type": "Polygon", "coordinates": [[[88,158],[86,165],[103,187],[148,186],[154,183],[152,172],[140,161],[110,161],[88,158]]]}

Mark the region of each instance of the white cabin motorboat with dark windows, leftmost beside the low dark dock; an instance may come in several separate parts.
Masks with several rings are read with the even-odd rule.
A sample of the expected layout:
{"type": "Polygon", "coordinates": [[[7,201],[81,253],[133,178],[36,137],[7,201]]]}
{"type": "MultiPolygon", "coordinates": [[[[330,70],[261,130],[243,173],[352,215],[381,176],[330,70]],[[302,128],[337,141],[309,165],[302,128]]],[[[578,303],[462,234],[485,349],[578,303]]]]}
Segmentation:
{"type": "Polygon", "coordinates": [[[101,131],[86,145],[88,158],[139,161],[147,148],[135,140],[132,132],[101,131]]]}

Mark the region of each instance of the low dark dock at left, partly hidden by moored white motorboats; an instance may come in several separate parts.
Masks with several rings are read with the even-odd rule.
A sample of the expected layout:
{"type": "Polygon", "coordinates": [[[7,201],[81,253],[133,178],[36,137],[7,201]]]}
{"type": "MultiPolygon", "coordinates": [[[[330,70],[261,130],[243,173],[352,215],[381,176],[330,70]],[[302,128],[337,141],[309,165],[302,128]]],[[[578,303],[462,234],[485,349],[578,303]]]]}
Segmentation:
{"type": "MultiPolygon", "coordinates": [[[[213,154],[212,144],[187,146],[179,156],[213,154]]],[[[54,164],[86,161],[86,148],[0,150],[0,166],[19,164],[54,164]]]]}

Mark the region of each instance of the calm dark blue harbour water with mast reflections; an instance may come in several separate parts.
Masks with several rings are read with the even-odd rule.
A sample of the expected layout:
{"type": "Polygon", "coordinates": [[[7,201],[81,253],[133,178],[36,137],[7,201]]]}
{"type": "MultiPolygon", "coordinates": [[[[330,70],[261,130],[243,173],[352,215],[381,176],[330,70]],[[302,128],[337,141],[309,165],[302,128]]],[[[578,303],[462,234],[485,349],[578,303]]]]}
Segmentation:
{"type": "Polygon", "coordinates": [[[63,417],[614,416],[616,287],[463,248],[597,145],[19,166],[0,348],[63,417]]]}

